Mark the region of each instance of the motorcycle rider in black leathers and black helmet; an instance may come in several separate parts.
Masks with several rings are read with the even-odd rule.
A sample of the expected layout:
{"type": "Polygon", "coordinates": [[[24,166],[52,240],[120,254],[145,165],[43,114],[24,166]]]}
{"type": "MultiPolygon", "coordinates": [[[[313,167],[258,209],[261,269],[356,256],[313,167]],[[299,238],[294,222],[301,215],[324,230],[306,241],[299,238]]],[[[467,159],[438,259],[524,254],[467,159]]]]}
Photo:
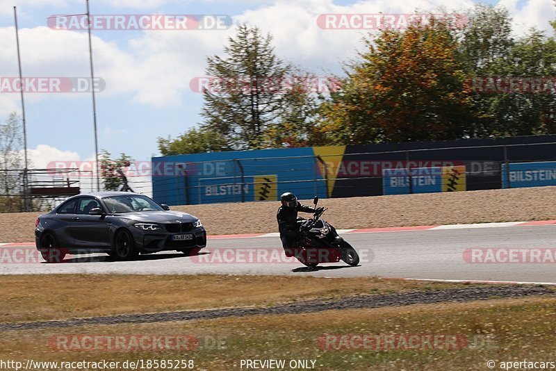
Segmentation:
{"type": "Polygon", "coordinates": [[[315,213],[322,210],[322,208],[312,208],[311,206],[304,206],[297,201],[297,197],[291,192],[283,193],[280,196],[281,206],[278,209],[276,219],[278,220],[278,231],[280,232],[280,239],[282,247],[286,256],[293,256],[293,246],[295,240],[299,236],[299,224],[297,223],[297,213],[315,213]]]}

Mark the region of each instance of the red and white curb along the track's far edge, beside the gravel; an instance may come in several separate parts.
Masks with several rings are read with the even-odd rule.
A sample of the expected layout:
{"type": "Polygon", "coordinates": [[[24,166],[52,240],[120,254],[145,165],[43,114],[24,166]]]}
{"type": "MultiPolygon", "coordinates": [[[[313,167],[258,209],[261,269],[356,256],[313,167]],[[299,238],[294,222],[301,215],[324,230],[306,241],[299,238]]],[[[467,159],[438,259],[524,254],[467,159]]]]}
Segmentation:
{"type": "MultiPolygon", "coordinates": [[[[446,224],[446,225],[424,225],[424,226],[386,226],[382,228],[359,228],[359,229],[336,229],[338,233],[386,233],[386,232],[410,232],[410,231],[445,231],[448,229],[475,229],[475,228],[502,228],[507,226],[546,226],[555,225],[556,220],[538,220],[534,222],[501,222],[501,223],[477,223],[477,224],[446,224]]],[[[208,240],[228,240],[235,238],[261,238],[279,237],[277,232],[273,233],[245,233],[224,234],[218,236],[207,236],[208,240]]],[[[0,243],[0,247],[29,246],[35,242],[0,243]]]]}

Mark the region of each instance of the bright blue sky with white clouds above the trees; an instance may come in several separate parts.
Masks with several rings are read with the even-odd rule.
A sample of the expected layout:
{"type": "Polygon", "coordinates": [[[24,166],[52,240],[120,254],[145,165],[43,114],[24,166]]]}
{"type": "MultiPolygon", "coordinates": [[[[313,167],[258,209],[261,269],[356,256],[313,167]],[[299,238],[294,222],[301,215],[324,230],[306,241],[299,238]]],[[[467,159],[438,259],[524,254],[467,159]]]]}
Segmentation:
{"type": "MultiPolygon", "coordinates": [[[[323,29],[321,14],[400,14],[445,8],[461,13],[473,0],[90,0],[92,15],[221,15],[221,29],[92,31],[99,149],[135,160],[158,156],[157,137],[176,137],[202,122],[202,94],[190,81],[204,77],[206,56],[222,54],[234,25],[270,33],[277,55],[318,76],[342,73],[356,56],[365,31],[323,29]]],[[[514,32],[531,26],[551,33],[552,0],[488,0],[514,17],[514,32]]],[[[17,6],[24,76],[88,78],[88,33],[54,29],[52,15],[85,13],[85,0],[0,0],[0,76],[18,76],[13,6],[17,6]]],[[[64,85],[65,86],[65,85],[64,85]]],[[[17,92],[0,85],[0,120],[21,113],[17,92]],[[9,90],[9,89],[8,89],[9,90]]],[[[95,156],[90,92],[26,92],[28,149],[33,166],[95,156]]]]}

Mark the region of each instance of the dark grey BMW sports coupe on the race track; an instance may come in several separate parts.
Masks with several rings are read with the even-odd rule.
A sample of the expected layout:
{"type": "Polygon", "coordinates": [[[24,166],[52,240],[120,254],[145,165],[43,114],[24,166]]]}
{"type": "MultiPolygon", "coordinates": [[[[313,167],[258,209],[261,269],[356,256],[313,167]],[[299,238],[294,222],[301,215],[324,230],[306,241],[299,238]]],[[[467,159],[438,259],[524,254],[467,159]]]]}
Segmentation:
{"type": "Polygon", "coordinates": [[[66,254],[106,253],[121,260],[138,254],[206,247],[201,221],[170,211],[145,195],[97,192],[65,200],[35,222],[35,245],[49,263],[66,254]]]}

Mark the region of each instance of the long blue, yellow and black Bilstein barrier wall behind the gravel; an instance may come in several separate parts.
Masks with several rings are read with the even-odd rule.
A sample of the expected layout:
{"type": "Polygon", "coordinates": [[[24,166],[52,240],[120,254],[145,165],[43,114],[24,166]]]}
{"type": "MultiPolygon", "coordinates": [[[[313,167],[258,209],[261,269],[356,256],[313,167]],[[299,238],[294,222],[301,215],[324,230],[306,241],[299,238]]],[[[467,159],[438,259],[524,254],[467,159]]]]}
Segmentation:
{"type": "Polygon", "coordinates": [[[153,197],[170,205],[272,200],[286,191],[310,199],[556,186],[556,135],[230,151],[152,162],[153,197]],[[505,163],[512,163],[509,172],[505,163]],[[382,173],[398,166],[444,170],[441,179],[418,176],[409,188],[404,174],[382,173]]]}

